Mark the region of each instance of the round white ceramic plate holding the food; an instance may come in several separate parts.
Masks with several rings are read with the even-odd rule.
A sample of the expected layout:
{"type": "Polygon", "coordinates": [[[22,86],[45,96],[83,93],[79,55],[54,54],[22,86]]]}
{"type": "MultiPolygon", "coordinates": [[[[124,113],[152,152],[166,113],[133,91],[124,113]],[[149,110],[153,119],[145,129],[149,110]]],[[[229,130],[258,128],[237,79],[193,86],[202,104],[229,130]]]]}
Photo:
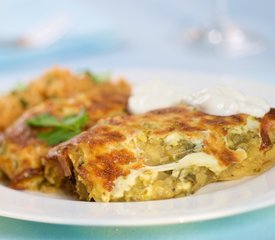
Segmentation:
{"type": "MultiPolygon", "coordinates": [[[[171,71],[122,70],[114,75],[125,76],[135,83],[161,79],[171,84],[184,84],[200,89],[226,83],[256,96],[266,98],[275,106],[275,85],[235,79],[228,76],[186,74],[171,71]]],[[[6,90],[11,81],[2,84],[6,90]]],[[[37,222],[91,225],[137,226],[186,223],[252,211],[275,204],[275,169],[261,176],[241,181],[210,184],[195,195],[162,201],[133,203],[96,203],[65,199],[9,189],[0,185],[0,215],[37,222]]]]}

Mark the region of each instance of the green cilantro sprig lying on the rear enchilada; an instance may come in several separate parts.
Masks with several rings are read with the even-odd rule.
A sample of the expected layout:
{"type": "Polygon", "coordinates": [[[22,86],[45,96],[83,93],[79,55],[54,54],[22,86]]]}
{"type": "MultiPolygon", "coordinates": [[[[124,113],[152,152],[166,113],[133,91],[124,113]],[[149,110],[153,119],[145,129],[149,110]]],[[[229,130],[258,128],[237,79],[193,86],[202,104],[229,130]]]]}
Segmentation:
{"type": "Polygon", "coordinates": [[[62,119],[57,119],[51,114],[40,114],[29,119],[27,124],[31,127],[51,128],[39,132],[37,137],[48,145],[56,145],[79,134],[88,119],[87,112],[82,110],[79,114],[68,115],[62,119]]]}

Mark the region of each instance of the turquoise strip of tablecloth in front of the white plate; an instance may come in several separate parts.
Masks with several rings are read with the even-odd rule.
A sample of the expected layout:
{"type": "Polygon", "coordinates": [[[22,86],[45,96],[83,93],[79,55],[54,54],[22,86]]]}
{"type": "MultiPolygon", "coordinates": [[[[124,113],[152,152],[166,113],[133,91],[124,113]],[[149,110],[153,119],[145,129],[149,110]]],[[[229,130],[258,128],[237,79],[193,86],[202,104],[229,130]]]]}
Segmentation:
{"type": "Polygon", "coordinates": [[[79,227],[0,218],[0,239],[274,239],[275,207],[217,220],[156,227],[79,227]]]}

